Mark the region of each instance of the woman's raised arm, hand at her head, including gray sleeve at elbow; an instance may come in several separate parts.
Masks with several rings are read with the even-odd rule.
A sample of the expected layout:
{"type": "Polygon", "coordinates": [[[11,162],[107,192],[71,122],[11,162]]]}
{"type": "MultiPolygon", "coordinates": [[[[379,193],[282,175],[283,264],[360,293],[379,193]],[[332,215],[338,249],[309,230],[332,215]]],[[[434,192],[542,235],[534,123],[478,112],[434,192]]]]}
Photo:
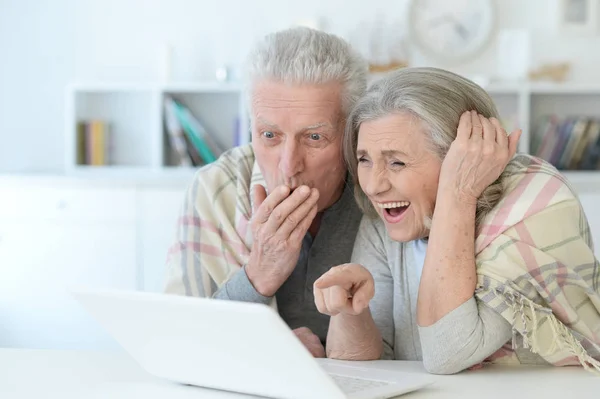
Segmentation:
{"type": "Polygon", "coordinates": [[[519,134],[507,138],[498,121],[464,114],[440,173],[417,302],[425,367],[461,371],[500,348],[511,329],[473,297],[477,284],[477,200],[506,167],[519,134]]]}

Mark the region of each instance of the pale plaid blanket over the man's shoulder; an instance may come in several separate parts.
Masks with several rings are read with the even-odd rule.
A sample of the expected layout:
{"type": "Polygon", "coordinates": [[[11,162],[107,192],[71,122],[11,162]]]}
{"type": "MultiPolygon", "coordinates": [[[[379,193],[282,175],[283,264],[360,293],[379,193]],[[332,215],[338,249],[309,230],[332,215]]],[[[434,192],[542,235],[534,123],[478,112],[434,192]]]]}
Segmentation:
{"type": "Polygon", "coordinates": [[[256,184],[265,182],[251,145],[233,148],[198,170],[169,249],[166,293],[211,297],[248,261],[256,184]]]}

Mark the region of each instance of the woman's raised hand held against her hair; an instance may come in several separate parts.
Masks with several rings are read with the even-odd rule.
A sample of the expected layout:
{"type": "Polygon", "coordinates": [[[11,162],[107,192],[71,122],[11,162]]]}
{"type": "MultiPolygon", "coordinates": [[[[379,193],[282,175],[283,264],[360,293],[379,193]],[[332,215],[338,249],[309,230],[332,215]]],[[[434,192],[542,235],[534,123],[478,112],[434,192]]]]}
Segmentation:
{"type": "Polygon", "coordinates": [[[475,111],[462,114],[456,139],[442,163],[439,191],[476,204],[517,152],[519,137],[521,130],[508,136],[496,118],[487,119],[475,111]]]}

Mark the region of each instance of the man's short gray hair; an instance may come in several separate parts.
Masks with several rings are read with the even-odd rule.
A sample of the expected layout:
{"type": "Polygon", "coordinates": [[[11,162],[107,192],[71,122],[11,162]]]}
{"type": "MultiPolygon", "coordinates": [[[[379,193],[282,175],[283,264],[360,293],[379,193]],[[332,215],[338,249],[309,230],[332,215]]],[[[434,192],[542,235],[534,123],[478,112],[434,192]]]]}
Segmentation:
{"type": "Polygon", "coordinates": [[[274,80],[286,84],[343,85],[342,108],[347,117],[367,88],[366,60],[342,38],[296,27],[267,35],[247,60],[247,101],[254,84],[274,80]]]}

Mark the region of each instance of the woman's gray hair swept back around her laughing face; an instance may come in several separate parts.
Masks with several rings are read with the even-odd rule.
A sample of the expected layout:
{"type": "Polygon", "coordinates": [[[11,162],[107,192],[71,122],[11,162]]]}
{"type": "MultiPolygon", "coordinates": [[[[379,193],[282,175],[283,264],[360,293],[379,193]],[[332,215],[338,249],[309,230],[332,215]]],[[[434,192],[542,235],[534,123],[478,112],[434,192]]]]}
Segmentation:
{"type": "MultiPolygon", "coordinates": [[[[499,119],[494,101],[485,90],[449,71],[430,67],[404,68],[376,81],[351,112],[343,144],[344,157],[356,183],[355,197],[363,212],[377,215],[358,184],[356,144],[363,122],[389,114],[408,113],[421,122],[430,151],[443,160],[456,138],[460,116],[470,110],[486,118],[499,119]]],[[[506,177],[518,166],[519,161],[513,158],[500,177],[484,190],[477,201],[476,227],[498,204],[506,190],[506,177]]]]}

